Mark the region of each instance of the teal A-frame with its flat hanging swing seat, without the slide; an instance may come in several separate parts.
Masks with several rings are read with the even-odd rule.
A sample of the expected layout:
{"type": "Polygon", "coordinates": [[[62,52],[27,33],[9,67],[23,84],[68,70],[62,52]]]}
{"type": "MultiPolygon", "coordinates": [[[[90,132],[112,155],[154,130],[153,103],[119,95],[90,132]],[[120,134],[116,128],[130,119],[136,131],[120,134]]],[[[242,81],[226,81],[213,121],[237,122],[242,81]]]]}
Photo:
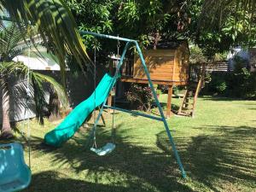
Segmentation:
{"type": "MultiPolygon", "coordinates": [[[[131,45],[135,45],[136,49],[137,49],[137,53],[142,61],[142,65],[143,65],[143,69],[147,75],[147,78],[148,78],[148,84],[150,86],[150,89],[152,90],[153,92],[153,96],[154,96],[154,100],[156,101],[156,105],[160,111],[160,117],[155,117],[153,115],[150,115],[150,114],[145,114],[145,113],[140,113],[140,112],[135,112],[135,111],[130,111],[130,110],[126,110],[126,109],[123,109],[123,108],[116,108],[115,107],[115,97],[114,97],[114,103],[113,103],[113,107],[112,106],[108,106],[106,103],[108,101],[108,97],[105,98],[105,101],[102,103],[102,107],[100,109],[100,112],[98,113],[97,117],[96,117],[96,120],[94,122],[94,126],[93,126],[93,129],[92,129],[92,135],[94,136],[94,142],[96,143],[96,127],[99,123],[99,120],[101,118],[101,115],[103,113],[103,109],[104,108],[110,108],[110,109],[113,109],[113,110],[118,110],[118,111],[121,111],[121,112],[125,112],[125,113],[131,113],[131,114],[134,114],[134,115],[137,115],[137,116],[143,116],[145,118],[149,118],[149,119],[154,119],[154,120],[158,120],[158,121],[162,121],[165,128],[166,128],[166,134],[169,138],[169,142],[171,143],[171,146],[172,146],[172,150],[175,154],[175,158],[177,160],[177,164],[179,166],[179,169],[182,173],[182,176],[183,178],[186,177],[186,173],[183,169],[183,164],[179,158],[179,155],[177,153],[177,148],[175,146],[175,143],[173,141],[173,138],[172,138],[172,134],[171,134],[171,131],[169,129],[169,126],[166,122],[166,118],[165,118],[165,115],[163,113],[163,110],[162,108],[160,107],[160,102],[157,98],[157,95],[155,93],[155,90],[154,90],[154,86],[153,86],[153,83],[150,79],[150,75],[148,73],[148,68],[146,66],[146,63],[145,63],[145,60],[143,58],[143,53],[142,53],[142,50],[140,49],[139,47],[139,44],[137,43],[136,40],[133,40],[133,39],[129,39],[129,38],[119,38],[119,37],[115,37],[115,36],[110,36],[110,35],[104,35],[104,34],[99,34],[99,33],[95,33],[95,32],[84,32],[84,31],[80,31],[80,34],[81,35],[92,35],[94,37],[97,37],[97,38],[108,38],[108,39],[113,39],[113,40],[118,40],[119,41],[122,41],[122,42],[125,42],[125,49],[123,50],[123,53],[119,59],[119,62],[118,62],[118,65],[116,67],[116,70],[115,70],[115,73],[113,75],[113,79],[112,79],[112,82],[110,84],[110,89],[108,90],[108,95],[110,93],[110,91],[113,89],[113,86],[114,84],[116,85],[116,82],[117,82],[117,79],[119,79],[119,72],[120,72],[120,69],[123,65],[123,61],[125,59],[125,54],[127,52],[127,49],[131,47],[131,45]]],[[[116,90],[116,89],[115,89],[116,90]]],[[[114,114],[114,113],[113,113],[114,114]]],[[[93,147],[96,147],[93,146],[93,147]]],[[[105,146],[103,146],[103,148],[91,148],[92,151],[95,151],[96,153],[102,153],[102,154],[108,154],[108,153],[111,153],[113,151],[113,149],[115,148],[115,145],[113,143],[107,143],[105,146]]]]}

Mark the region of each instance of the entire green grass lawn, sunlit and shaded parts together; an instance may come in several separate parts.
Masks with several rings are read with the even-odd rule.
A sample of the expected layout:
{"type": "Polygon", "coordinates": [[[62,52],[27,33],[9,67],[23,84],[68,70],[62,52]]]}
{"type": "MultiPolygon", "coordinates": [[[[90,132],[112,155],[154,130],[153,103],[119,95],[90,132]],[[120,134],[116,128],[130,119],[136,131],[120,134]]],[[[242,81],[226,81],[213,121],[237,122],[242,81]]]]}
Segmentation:
{"type": "MultiPolygon", "coordinates": [[[[42,142],[58,122],[42,127],[33,120],[32,183],[25,191],[256,191],[255,114],[255,101],[205,97],[198,100],[194,119],[168,119],[187,179],[161,122],[116,114],[117,148],[99,157],[85,147],[86,128],[53,149],[42,142]]],[[[105,118],[98,146],[111,141],[111,115],[105,118]]]]}

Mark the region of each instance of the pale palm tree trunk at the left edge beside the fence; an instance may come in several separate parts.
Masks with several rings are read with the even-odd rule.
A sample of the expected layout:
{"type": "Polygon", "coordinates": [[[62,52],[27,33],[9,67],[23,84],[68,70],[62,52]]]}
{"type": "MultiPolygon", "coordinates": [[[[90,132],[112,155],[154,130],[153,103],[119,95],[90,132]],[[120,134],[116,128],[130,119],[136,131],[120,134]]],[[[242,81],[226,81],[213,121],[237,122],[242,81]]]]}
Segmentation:
{"type": "Polygon", "coordinates": [[[6,77],[2,77],[2,115],[3,115],[3,125],[2,125],[2,138],[13,137],[12,129],[9,123],[9,87],[6,77]]]}

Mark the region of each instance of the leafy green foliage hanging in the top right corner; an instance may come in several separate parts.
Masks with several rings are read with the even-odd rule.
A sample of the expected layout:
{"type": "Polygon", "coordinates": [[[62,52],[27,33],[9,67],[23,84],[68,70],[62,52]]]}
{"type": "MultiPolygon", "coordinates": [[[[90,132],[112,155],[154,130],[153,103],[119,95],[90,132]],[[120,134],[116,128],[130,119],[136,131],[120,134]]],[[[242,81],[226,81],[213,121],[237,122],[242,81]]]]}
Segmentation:
{"type": "MultiPolygon", "coordinates": [[[[199,33],[196,44],[212,57],[230,46],[256,44],[254,1],[201,1],[201,15],[197,18],[199,33]]],[[[196,18],[195,18],[196,19],[196,18]]]]}

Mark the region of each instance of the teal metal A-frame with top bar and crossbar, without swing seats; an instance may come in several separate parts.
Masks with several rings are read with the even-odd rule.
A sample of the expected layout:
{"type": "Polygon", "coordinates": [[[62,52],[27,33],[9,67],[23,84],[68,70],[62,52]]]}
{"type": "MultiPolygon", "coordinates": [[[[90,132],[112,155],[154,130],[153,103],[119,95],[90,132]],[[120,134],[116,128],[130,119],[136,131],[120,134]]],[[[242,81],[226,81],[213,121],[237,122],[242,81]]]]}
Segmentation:
{"type": "Polygon", "coordinates": [[[114,74],[114,77],[113,77],[113,82],[111,84],[111,87],[110,87],[110,90],[108,90],[108,94],[110,93],[110,91],[113,89],[113,86],[114,84],[116,83],[116,79],[118,79],[119,77],[119,70],[120,68],[122,67],[123,65],[123,61],[125,59],[125,55],[126,55],[126,52],[127,52],[127,49],[131,46],[131,44],[135,45],[136,46],[136,49],[137,49],[137,53],[142,61],[142,65],[143,65],[143,69],[147,75],[147,78],[148,78],[148,84],[150,86],[150,89],[152,90],[153,92],[153,96],[154,96],[154,100],[156,102],[156,105],[160,111],[160,117],[155,117],[153,115],[150,115],[150,114],[145,114],[145,113],[139,113],[139,112],[133,112],[133,111],[129,111],[129,110],[126,110],[126,109],[123,109],[123,108],[116,108],[116,107],[111,107],[111,106],[108,106],[106,105],[106,102],[108,101],[108,97],[105,99],[105,101],[103,102],[102,104],[102,107],[101,107],[101,110],[100,110],[100,113],[98,113],[97,115],[97,118],[96,118],[96,121],[95,121],[95,125],[94,125],[94,129],[96,129],[96,125],[98,124],[100,118],[101,118],[101,115],[103,113],[103,109],[104,108],[111,108],[111,109],[115,109],[115,110],[118,110],[118,111],[122,111],[122,112],[125,112],[125,113],[131,113],[131,114],[134,114],[134,115],[137,115],[137,116],[143,116],[145,118],[149,118],[149,119],[154,119],[154,120],[158,120],[158,121],[162,121],[164,123],[164,126],[166,128],[166,134],[169,138],[169,142],[171,143],[171,146],[172,146],[172,150],[174,152],[174,155],[175,155],[175,158],[177,160],[177,164],[179,166],[179,169],[180,169],[180,172],[182,173],[182,176],[183,178],[186,177],[186,172],[184,171],[183,169],[183,164],[182,164],[182,161],[180,160],[180,157],[177,153],[177,148],[176,148],[176,145],[173,141],[173,138],[172,138],[172,134],[171,134],[171,131],[169,129],[169,126],[166,122],[166,118],[165,118],[165,115],[163,113],[163,110],[162,108],[160,107],[160,102],[156,96],[156,92],[154,90],[154,86],[153,86],[153,83],[152,83],[152,80],[150,79],[150,75],[148,73],[148,68],[146,66],[146,62],[144,60],[144,57],[143,57],[143,53],[142,53],[142,50],[140,49],[140,46],[139,44],[137,43],[136,40],[133,40],[133,39],[129,39],[129,38],[119,38],[119,37],[115,37],[115,36],[111,36],[111,35],[105,35],[105,34],[100,34],[100,33],[96,33],[96,32],[85,32],[85,31],[79,31],[81,35],[91,35],[91,36],[94,36],[96,38],[108,38],[108,39],[113,39],[113,40],[119,40],[119,41],[123,41],[123,42],[126,42],[125,44],[125,49],[123,50],[123,53],[121,55],[121,58],[119,60],[119,63],[116,67],[116,72],[114,74]]]}

